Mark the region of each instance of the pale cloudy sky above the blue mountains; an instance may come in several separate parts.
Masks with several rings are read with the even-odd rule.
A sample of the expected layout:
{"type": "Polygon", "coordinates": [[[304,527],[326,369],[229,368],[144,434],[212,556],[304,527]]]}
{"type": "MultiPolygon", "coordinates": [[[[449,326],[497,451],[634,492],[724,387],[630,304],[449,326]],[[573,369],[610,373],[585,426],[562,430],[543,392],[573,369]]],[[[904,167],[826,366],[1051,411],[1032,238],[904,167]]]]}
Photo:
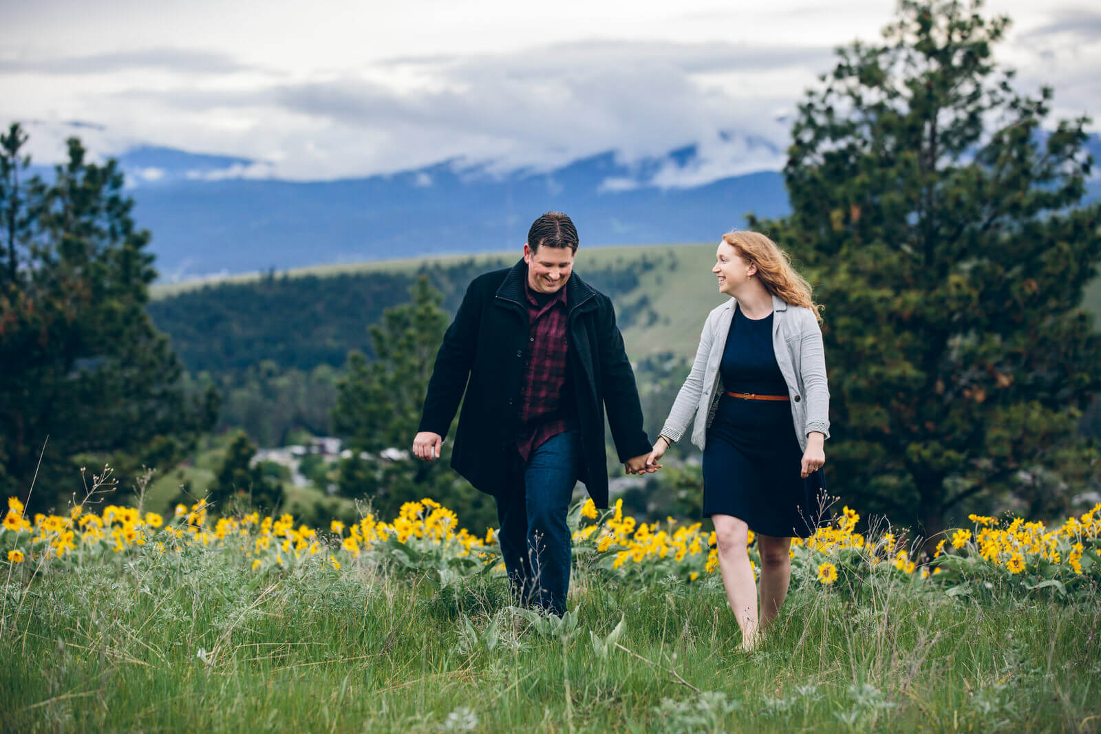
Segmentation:
{"type": "MultiPolygon", "coordinates": [[[[36,0],[6,2],[0,122],[37,162],[63,123],[100,153],[137,144],[248,157],[321,179],[444,160],[544,168],[688,143],[696,183],[770,167],[784,116],[832,50],[874,40],[892,0],[36,0]],[[733,139],[721,132],[737,133],[733,139]]],[[[1101,11],[991,0],[999,58],[1056,111],[1101,114],[1101,11]]],[[[1094,124],[1097,129],[1097,124],[1094,124]]],[[[683,182],[682,182],[683,183],[683,182]]]]}

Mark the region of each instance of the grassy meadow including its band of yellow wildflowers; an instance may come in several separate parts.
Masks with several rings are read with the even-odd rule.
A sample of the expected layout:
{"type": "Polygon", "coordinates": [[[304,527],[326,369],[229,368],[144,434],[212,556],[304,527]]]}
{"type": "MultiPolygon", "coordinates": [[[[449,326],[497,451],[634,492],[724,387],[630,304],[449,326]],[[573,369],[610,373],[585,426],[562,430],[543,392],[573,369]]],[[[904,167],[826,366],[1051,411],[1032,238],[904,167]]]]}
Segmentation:
{"type": "Polygon", "coordinates": [[[793,547],[752,653],[707,529],[619,508],[571,513],[563,620],[511,606],[492,536],[428,501],[330,532],[20,513],[0,527],[4,732],[1101,726],[1101,505],[1050,530],[975,517],[933,573],[846,508],[793,547]]]}

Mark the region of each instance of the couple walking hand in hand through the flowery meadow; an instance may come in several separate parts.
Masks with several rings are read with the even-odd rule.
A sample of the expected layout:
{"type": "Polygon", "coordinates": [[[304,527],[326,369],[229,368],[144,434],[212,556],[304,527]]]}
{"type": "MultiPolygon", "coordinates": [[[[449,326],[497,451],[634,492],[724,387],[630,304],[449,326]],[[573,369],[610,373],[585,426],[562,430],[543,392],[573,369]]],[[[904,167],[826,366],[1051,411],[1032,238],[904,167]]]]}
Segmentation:
{"type": "Polygon", "coordinates": [[[730,298],[707,316],[691,372],[651,446],[612,304],[573,272],[578,244],[569,217],[547,212],[532,224],[523,260],[471,282],[436,355],[413,452],[439,457],[461,402],[451,467],[497,500],[516,601],[562,615],[577,481],[608,506],[606,410],[632,474],[661,469],[695,421],[704,515],[750,648],[787,593],[792,538],[811,535],[825,510],[829,390],[810,286],[765,235],[723,234],[711,272],[730,298]]]}

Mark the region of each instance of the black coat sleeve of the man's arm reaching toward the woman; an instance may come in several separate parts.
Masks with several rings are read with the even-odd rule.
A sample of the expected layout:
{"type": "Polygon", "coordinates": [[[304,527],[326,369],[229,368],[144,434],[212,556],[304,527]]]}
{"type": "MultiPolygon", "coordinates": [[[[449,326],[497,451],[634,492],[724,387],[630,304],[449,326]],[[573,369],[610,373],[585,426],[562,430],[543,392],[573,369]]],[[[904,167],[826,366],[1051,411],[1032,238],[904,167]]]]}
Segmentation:
{"type": "Polygon", "coordinates": [[[615,326],[615,309],[603,298],[597,310],[597,341],[600,354],[600,384],[608,426],[619,460],[650,453],[651,443],[642,428],[642,403],[634,381],[634,371],[623,347],[623,335],[615,326]]]}

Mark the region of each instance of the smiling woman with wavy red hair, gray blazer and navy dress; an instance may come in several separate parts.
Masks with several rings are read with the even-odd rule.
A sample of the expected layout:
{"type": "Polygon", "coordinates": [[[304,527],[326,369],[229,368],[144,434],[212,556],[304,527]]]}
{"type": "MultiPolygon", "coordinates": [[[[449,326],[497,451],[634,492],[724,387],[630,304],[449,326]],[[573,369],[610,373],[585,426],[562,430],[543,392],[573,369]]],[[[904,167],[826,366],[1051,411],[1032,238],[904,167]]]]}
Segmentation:
{"type": "Polygon", "coordinates": [[[695,418],[704,450],[704,516],[715,523],[727,598],[751,649],[775,618],[792,576],[792,537],[811,535],[825,510],[822,442],[829,388],[818,306],[776,243],[757,232],[722,235],[711,272],[730,300],[704,325],[691,372],[647,467],[695,418]],[[761,618],[746,546],[757,536],[761,618]]]}

